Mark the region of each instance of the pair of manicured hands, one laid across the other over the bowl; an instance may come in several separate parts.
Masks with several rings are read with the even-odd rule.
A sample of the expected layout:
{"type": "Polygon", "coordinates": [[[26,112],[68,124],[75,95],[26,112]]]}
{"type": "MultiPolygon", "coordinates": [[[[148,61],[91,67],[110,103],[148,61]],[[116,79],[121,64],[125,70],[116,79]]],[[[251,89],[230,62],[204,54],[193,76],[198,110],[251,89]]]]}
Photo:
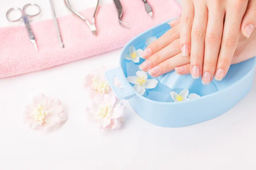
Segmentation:
{"type": "MultiPolygon", "coordinates": [[[[248,0],[215,0],[211,1],[212,3],[208,1],[210,2],[210,0],[183,0],[181,23],[145,49],[143,58],[147,60],[140,65],[141,70],[157,77],[179,65],[190,63],[185,67],[176,68],[176,71],[179,74],[191,73],[193,78],[203,75],[202,82],[209,84],[214,75],[215,79],[221,80],[227,74],[231,62],[234,64],[244,60],[239,55],[235,55],[233,59],[233,55],[236,49],[243,51],[238,50],[241,46],[250,45],[245,42],[241,45],[244,41],[241,40],[240,47],[236,48],[240,28],[247,38],[255,28],[256,0],[249,2],[248,0]],[[178,40],[179,31],[180,40],[178,40]],[[181,54],[178,46],[182,49],[181,54]],[[189,55],[190,51],[191,55],[189,55]]],[[[175,20],[172,26],[177,23],[178,21],[175,20]]],[[[250,38],[250,40],[254,39],[255,37],[250,38]]],[[[254,51],[251,53],[256,55],[254,51]]],[[[246,56],[247,59],[253,57],[251,55],[246,56]]]]}

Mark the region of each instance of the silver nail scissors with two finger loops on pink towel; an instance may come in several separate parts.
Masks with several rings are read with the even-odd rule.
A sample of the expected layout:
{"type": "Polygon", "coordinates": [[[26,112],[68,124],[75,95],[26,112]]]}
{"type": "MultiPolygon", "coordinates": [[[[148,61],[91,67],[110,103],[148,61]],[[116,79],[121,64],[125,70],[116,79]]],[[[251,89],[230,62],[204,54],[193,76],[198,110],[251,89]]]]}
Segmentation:
{"type": "Polygon", "coordinates": [[[20,9],[20,8],[18,8],[18,7],[14,7],[14,8],[9,9],[9,10],[6,12],[6,18],[7,18],[7,20],[9,20],[10,22],[16,22],[16,21],[19,21],[19,20],[23,20],[23,21],[24,21],[25,26],[26,26],[26,30],[28,31],[28,34],[29,34],[30,41],[31,41],[32,44],[34,45],[36,52],[38,52],[38,48],[37,48],[36,41],[35,41],[35,35],[34,35],[32,29],[31,29],[31,26],[30,26],[30,24],[29,24],[29,18],[32,18],[32,17],[37,16],[38,14],[40,14],[40,12],[41,12],[40,7],[39,7],[37,4],[35,4],[35,3],[28,3],[28,4],[26,4],[25,6],[23,6],[23,9],[20,9]],[[29,6],[35,6],[35,7],[37,7],[37,8],[38,8],[38,12],[37,12],[36,14],[33,14],[33,15],[27,14],[27,13],[26,13],[26,8],[28,8],[29,6]],[[10,17],[10,14],[11,14],[13,11],[17,11],[17,10],[20,11],[20,17],[19,17],[18,19],[16,19],[16,20],[15,20],[15,19],[13,20],[13,19],[10,17]]]}

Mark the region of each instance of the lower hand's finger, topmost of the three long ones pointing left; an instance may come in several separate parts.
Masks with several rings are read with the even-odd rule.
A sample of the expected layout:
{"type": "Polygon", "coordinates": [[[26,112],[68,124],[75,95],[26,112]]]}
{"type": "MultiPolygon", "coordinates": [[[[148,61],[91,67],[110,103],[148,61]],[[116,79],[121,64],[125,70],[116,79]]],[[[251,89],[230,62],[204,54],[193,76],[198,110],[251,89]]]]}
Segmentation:
{"type": "Polygon", "coordinates": [[[180,24],[169,29],[157,40],[153,41],[148,47],[142,52],[141,58],[147,59],[151,55],[155,54],[157,51],[165,48],[167,45],[172,43],[174,40],[180,38],[180,24]]]}

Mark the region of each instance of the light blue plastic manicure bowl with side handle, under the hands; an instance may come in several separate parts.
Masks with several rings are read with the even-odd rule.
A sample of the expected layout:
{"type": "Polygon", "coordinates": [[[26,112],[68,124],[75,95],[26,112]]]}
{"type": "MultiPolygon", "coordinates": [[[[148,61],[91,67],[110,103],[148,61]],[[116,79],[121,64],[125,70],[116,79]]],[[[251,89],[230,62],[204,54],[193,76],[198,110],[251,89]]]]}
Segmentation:
{"type": "MultiPolygon", "coordinates": [[[[156,88],[146,91],[141,96],[134,91],[133,86],[126,77],[135,75],[139,70],[138,65],[124,59],[128,49],[134,45],[136,49],[145,48],[145,40],[148,37],[160,37],[170,26],[162,23],[142,34],[134,37],[122,49],[120,66],[106,72],[106,78],[119,99],[129,99],[129,103],[137,114],[157,126],[184,127],[195,125],[213,119],[230,110],[252,88],[256,58],[249,59],[236,65],[232,65],[221,81],[213,80],[210,85],[202,85],[201,79],[192,79],[191,75],[177,75],[174,71],[157,77],[159,81],[156,88]],[[113,85],[117,77],[123,89],[113,85]],[[183,102],[173,102],[170,91],[179,93],[182,89],[189,89],[190,93],[199,94],[201,97],[183,102]]],[[[152,77],[149,76],[149,79],[152,77]]]]}

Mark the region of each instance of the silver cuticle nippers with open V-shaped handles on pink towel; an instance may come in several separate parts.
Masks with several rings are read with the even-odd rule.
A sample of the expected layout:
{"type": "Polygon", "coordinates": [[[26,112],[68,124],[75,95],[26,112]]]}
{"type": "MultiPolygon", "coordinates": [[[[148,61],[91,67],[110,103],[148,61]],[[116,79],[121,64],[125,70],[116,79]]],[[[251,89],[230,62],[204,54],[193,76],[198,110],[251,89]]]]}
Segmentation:
{"type": "Polygon", "coordinates": [[[81,20],[84,20],[85,23],[87,24],[87,26],[90,28],[90,30],[93,32],[94,35],[96,35],[96,26],[95,26],[95,18],[96,18],[96,14],[97,11],[99,9],[99,0],[97,0],[97,5],[93,14],[93,20],[92,23],[90,23],[88,20],[86,20],[81,14],[79,14],[77,11],[75,11],[69,3],[69,0],[64,0],[64,3],[66,4],[67,8],[70,9],[70,11],[72,11],[74,14],[76,14],[76,16],[78,16],[79,18],[81,18],[81,20]]]}

